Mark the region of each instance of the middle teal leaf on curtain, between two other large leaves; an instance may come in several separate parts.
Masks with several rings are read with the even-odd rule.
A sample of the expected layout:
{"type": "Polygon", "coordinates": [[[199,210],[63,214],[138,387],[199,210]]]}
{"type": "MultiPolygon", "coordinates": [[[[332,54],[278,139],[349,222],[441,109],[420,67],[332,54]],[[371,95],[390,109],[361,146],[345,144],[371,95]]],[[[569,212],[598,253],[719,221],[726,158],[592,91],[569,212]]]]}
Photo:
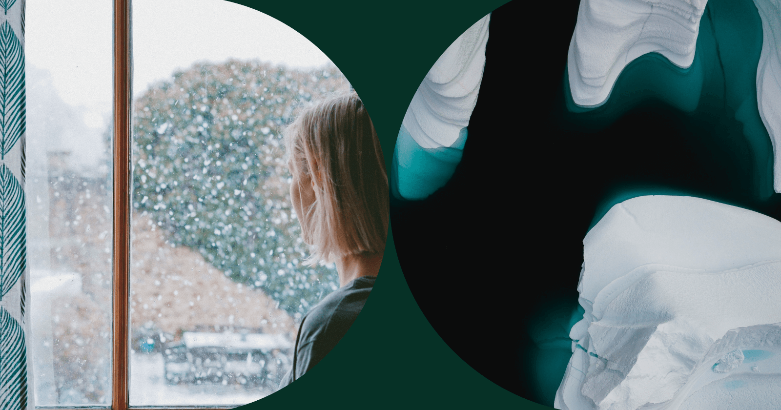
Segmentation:
{"type": "Polygon", "coordinates": [[[0,166],[0,301],[27,268],[25,225],[24,190],[11,169],[3,164],[0,166]]]}

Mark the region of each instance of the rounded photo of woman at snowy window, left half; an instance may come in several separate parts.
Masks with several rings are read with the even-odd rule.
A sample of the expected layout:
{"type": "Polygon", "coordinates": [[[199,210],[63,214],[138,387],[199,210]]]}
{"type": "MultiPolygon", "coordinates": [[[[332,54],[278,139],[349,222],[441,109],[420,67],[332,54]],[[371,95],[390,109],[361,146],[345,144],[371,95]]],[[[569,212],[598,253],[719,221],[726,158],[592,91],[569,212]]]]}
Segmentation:
{"type": "Polygon", "coordinates": [[[28,241],[0,254],[5,265],[28,255],[30,276],[22,291],[3,288],[2,305],[27,320],[30,291],[32,331],[8,340],[27,337],[34,372],[3,373],[3,383],[32,389],[35,379],[16,399],[105,407],[124,391],[126,407],[232,408],[318,365],[373,290],[390,219],[380,141],[341,70],[291,27],[234,2],[134,0],[130,67],[112,62],[112,36],[122,38],[112,2],[12,3],[7,20],[21,23],[0,27],[0,49],[4,73],[16,67],[3,81],[16,85],[2,98],[22,102],[20,132],[25,101],[29,121],[16,145],[27,148],[3,155],[21,161],[12,192],[27,191],[27,219],[7,225],[5,166],[0,214],[22,237],[28,226],[28,241]],[[132,102],[115,99],[115,72],[132,73],[132,102]],[[120,123],[122,107],[132,123],[120,123]],[[113,155],[123,127],[130,152],[113,155]],[[129,204],[112,187],[122,163],[129,204]],[[122,209],[129,224],[115,218],[122,209]],[[131,244],[127,299],[112,293],[123,285],[116,237],[131,244]],[[112,302],[126,314],[112,316],[112,302]],[[123,327],[129,340],[112,337],[123,327]],[[127,373],[112,379],[117,369],[127,373]]]}

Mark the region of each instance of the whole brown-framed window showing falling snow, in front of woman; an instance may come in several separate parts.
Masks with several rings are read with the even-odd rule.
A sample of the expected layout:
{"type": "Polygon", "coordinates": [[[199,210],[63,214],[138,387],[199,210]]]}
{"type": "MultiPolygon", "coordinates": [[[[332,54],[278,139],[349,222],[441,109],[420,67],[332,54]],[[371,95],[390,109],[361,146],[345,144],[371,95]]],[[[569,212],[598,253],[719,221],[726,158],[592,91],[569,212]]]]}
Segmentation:
{"type": "Polygon", "coordinates": [[[338,286],[301,266],[280,130],[348,83],[289,27],[219,0],[133,2],[131,62],[130,5],[114,6],[27,9],[36,404],[255,401],[338,286]],[[83,26],[48,30],[67,16],[83,26]]]}

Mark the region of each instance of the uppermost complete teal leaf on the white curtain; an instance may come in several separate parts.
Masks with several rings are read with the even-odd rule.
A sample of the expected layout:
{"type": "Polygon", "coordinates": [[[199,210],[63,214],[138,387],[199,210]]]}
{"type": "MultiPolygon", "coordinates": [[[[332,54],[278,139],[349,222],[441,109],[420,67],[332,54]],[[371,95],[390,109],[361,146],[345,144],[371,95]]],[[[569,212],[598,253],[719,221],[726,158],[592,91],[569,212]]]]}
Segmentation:
{"type": "Polygon", "coordinates": [[[24,50],[6,20],[0,27],[0,159],[24,134],[24,98],[24,50]]]}

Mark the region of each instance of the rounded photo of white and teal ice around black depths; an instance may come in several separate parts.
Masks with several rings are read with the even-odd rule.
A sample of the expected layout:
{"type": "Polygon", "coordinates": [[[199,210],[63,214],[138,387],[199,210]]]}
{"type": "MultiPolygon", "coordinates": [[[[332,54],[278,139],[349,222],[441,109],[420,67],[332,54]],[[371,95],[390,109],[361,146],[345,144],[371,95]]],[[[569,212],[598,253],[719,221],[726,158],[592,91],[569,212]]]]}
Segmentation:
{"type": "Polygon", "coordinates": [[[762,0],[516,0],[455,39],[391,166],[455,353],[562,410],[776,408],[779,32],[762,0]]]}

